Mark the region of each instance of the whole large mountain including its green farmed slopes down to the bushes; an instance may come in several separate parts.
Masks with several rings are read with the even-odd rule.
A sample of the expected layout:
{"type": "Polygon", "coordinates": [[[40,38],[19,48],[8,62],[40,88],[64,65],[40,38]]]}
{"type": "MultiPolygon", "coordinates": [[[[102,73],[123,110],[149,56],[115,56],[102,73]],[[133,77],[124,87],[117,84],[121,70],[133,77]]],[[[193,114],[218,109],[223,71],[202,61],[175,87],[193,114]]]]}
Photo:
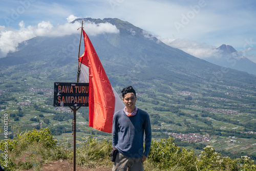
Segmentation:
{"type": "MultiPolygon", "coordinates": [[[[211,145],[232,158],[255,159],[254,75],[169,47],[116,18],[84,20],[109,22],[120,30],[89,37],[115,90],[131,85],[137,91],[137,106],[150,114],[153,138],[173,136],[197,155],[211,145]]],[[[49,127],[61,143],[72,143],[73,116],[69,108],[53,107],[53,82],[76,82],[79,38],[35,37],[0,59],[1,122],[7,114],[10,138],[49,127]]],[[[81,137],[111,138],[88,127],[88,108],[79,109],[77,127],[81,137]]],[[[2,127],[2,139],[3,133],[2,127]]]]}

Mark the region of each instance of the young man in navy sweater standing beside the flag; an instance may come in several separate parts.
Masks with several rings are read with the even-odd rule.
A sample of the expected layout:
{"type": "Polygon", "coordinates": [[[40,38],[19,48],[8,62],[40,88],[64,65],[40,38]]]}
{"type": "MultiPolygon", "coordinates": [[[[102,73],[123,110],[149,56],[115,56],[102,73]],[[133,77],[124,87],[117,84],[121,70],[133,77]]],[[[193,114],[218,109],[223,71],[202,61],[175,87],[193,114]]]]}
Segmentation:
{"type": "Polygon", "coordinates": [[[112,143],[119,153],[112,170],[144,170],[143,162],[151,146],[150,117],[135,106],[137,97],[132,86],[124,88],[121,93],[125,108],[113,116],[112,143]]]}

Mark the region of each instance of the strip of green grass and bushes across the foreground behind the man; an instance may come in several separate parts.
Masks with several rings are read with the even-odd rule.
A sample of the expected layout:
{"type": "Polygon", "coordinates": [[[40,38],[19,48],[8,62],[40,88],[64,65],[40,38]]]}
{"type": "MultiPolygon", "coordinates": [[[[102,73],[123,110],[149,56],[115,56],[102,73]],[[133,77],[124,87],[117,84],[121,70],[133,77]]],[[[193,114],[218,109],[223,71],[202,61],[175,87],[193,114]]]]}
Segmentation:
{"type": "MultiPolygon", "coordinates": [[[[79,137],[76,148],[76,164],[86,168],[112,168],[110,161],[110,140],[79,137]]],[[[5,151],[6,140],[0,142],[0,149],[5,151]]],[[[72,146],[56,145],[49,129],[33,130],[17,135],[16,139],[8,140],[8,166],[0,158],[0,164],[8,170],[30,169],[41,170],[42,164],[54,160],[73,160],[72,146]]],[[[4,155],[2,153],[1,155],[4,155]]],[[[222,157],[211,146],[206,146],[202,154],[196,157],[195,152],[177,146],[172,138],[153,140],[150,154],[144,162],[144,170],[254,170],[252,160],[247,156],[240,159],[222,157]],[[218,160],[217,160],[218,159],[218,160]],[[232,168],[232,169],[226,169],[232,168]]]]}

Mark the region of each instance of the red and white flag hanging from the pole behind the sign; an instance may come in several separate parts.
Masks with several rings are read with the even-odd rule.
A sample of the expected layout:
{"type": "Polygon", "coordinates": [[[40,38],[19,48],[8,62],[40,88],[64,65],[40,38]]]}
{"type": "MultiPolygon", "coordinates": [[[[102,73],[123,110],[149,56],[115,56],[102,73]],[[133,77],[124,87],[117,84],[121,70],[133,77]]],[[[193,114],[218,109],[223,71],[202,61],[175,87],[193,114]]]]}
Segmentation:
{"type": "Polygon", "coordinates": [[[84,30],[82,33],[84,53],[79,58],[81,62],[79,82],[89,82],[89,126],[112,133],[113,115],[125,105],[112,88],[91,40],[84,30]]]}

